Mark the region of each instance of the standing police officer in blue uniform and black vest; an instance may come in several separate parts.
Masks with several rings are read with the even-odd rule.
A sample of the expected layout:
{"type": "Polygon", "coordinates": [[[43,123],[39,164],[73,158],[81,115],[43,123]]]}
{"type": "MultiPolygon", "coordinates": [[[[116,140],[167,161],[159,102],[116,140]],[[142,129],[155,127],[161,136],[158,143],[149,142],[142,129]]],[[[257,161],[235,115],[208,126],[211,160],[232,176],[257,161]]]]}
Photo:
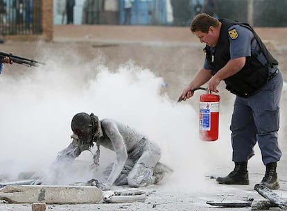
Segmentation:
{"type": "Polygon", "coordinates": [[[211,92],[225,81],[226,88],[236,94],[230,129],[234,170],[218,177],[220,184],[249,184],[247,161],[254,155],[258,142],[266,173],[261,183],[278,189],[277,162],[281,151],[277,142],[279,101],[283,78],[278,62],[266,49],[253,28],[246,23],[215,19],[199,14],[191,23],[191,32],[206,44],[205,65],[180,95],[193,96],[191,90],[208,82],[211,92]]]}

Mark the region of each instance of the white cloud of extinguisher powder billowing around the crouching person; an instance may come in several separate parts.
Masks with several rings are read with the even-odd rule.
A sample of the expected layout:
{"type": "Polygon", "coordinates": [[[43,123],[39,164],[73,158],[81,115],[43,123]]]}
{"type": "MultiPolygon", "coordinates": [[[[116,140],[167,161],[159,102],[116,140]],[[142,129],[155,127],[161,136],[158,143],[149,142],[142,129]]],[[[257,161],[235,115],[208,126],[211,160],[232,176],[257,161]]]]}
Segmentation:
{"type": "MultiPolygon", "coordinates": [[[[71,141],[73,115],[94,112],[100,119],[111,118],[137,128],[159,144],[161,161],[174,170],[163,181],[163,189],[198,192],[210,188],[205,176],[218,162],[231,160],[227,126],[220,130],[227,141],[202,142],[198,108],[169,99],[162,93],[164,79],[153,70],[132,60],[108,69],[101,53],[87,62],[69,52],[55,55],[46,49],[42,53],[45,66],[29,69],[17,79],[5,71],[1,74],[0,175],[15,180],[23,171],[49,169],[57,153],[71,141]]],[[[112,158],[110,151],[101,151],[101,162],[112,158]]],[[[77,160],[87,161],[82,166],[88,167],[92,155],[87,152],[77,160]]],[[[70,183],[92,175],[78,170],[66,176],[70,183]]]]}

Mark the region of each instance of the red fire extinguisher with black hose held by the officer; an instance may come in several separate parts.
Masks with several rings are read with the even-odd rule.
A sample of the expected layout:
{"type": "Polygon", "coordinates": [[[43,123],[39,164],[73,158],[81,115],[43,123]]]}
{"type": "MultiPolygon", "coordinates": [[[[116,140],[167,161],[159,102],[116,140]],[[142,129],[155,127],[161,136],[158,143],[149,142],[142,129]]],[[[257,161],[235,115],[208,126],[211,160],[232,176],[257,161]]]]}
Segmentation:
{"type": "MultiPolygon", "coordinates": [[[[200,95],[199,133],[202,141],[212,142],[218,140],[219,128],[219,102],[218,94],[211,94],[209,90],[198,87],[193,90],[205,90],[207,93],[200,95]]],[[[178,101],[182,101],[180,97],[178,101]]]]}

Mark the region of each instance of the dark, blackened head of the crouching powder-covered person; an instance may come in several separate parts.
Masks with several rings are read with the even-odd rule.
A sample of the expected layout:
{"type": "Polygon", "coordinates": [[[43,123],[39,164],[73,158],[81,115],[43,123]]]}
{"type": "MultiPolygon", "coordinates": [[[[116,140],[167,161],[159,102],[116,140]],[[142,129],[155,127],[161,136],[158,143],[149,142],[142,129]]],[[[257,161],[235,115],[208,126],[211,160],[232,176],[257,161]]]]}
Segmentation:
{"type": "Polygon", "coordinates": [[[71,129],[73,130],[73,133],[78,136],[79,140],[86,143],[93,141],[93,137],[98,126],[95,125],[96,122],[94,121],[94,117],[95,116],[93,114],[88,115],[85,112],[81,112],[73,116],[71,129]]]}

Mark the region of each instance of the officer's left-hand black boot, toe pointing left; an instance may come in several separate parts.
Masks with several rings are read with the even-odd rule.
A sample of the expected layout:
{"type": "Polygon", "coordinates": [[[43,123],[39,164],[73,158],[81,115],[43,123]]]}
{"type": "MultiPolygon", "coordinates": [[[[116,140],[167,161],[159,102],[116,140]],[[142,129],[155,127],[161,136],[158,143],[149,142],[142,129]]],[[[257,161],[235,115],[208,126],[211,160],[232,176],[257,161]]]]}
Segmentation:
{"type": "Polygon", "coordinates": [[[235,162],[234,170],[225,177],[216,178],[216,181],[226,185],[249,185],[247,162],[235,162]]]}

